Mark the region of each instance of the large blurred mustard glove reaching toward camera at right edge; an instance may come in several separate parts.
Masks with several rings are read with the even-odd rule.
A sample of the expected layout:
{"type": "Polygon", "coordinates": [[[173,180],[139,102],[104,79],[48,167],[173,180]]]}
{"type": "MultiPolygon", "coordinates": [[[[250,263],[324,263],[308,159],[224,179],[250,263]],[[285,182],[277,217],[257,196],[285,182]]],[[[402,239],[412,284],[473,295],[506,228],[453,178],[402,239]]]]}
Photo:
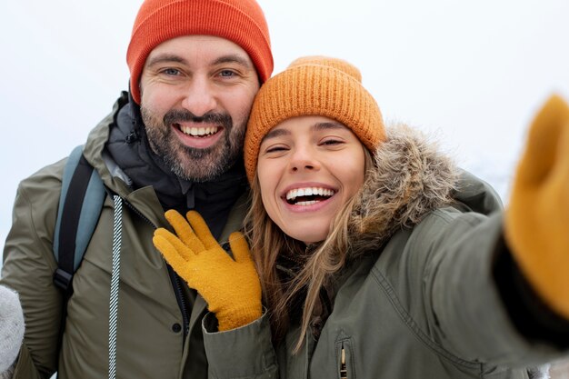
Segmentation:
{"type": "Polygon", "coordinates": [[[558,96],[531,126],[505,214],[505,238],[535,292],[569,319],[569,107],[558,96]]]}

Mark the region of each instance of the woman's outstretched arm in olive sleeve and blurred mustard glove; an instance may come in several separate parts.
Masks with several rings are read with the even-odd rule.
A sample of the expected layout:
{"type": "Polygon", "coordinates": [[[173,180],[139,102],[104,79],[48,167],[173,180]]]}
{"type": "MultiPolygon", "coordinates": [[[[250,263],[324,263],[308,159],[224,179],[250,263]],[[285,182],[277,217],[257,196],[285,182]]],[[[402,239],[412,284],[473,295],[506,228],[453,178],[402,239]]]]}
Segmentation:
{"type": "Polygon", "coordinates": [[[428,305],[442,342],[460,356],[537,365],[569,346],[569,170],[560,168],[569,158],[568,122],[559,97],[535,117],[504,213],[459,214],[449,227],[429,219],[443,224],[449,244],[438,249],[434,240],[428,305]]]}

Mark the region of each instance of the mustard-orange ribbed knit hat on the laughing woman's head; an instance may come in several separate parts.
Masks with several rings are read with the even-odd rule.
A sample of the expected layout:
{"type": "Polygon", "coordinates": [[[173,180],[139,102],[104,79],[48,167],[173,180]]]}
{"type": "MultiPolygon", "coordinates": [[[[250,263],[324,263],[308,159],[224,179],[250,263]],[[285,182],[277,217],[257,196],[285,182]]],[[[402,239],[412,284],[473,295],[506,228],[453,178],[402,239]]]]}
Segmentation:
{"type": "Polygon", "coordinates": [[[267,80],[255,97],[245,136],[249,182],[255,177],[265,135],[300,115],[323,115],[344,124],[371,152],[385,139],[383,117],[374,97],[362,86],[360,70],[341,59],[305,56],[267,80]]]}

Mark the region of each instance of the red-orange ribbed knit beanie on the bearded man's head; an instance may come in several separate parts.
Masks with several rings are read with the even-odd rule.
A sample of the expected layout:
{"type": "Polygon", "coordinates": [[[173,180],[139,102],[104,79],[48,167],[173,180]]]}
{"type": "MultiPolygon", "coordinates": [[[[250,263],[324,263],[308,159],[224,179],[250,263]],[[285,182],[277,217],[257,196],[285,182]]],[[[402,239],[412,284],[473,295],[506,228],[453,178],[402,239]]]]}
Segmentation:
{"type": "Polygon", "coordinates": [[[146,57],[157,45],[182,35],[215,35],[241,46],[261,82],[273,72],[269,29],[255,0],[145,0],[126,52],[130,90],[137,104],[146,57]]]}

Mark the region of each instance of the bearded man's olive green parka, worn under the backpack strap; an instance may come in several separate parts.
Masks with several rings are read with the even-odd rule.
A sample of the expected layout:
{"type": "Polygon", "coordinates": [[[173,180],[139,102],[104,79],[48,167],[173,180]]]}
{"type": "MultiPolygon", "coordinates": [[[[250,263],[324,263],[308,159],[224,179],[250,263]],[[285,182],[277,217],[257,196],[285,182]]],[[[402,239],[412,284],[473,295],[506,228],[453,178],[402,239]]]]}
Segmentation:
{"type": "MultiPolygon", "coordinates": [[[[152,243],[156,227],[169,227],[163,207],[152,187],[133,191],[108,156],[103,157],[110,127],[126,103],[124,94],[113,113],[88,136],[84,150],[105,186],[123,199],[116,375],[136,379],[205,378],[207,362],[200,324],[206,304],[183,281],[174,288],[176,279],[171,278],[172,273],[152,243]],[[180,291],[185,291],[190,304],[179,304],[180,291]],[[185,321],[189,323],[187,331],[185,321]]],[[[52,244],[64,166],[62,160],[25,179],[15,199],[0,280],[18,292],[25,310],[25,343],[15,378],[49,378],[56,370],[61,379],[108,376],[114,233],[114,203],[110,196],[105,199],[95,234],[75,273],[61,354],[57,352],[63,296],[53,283],[56,263],[52,244]]],[[[246,212],[243,203],[235,204],[220,240],[226,240],[241,226],[246,212]]]]}

